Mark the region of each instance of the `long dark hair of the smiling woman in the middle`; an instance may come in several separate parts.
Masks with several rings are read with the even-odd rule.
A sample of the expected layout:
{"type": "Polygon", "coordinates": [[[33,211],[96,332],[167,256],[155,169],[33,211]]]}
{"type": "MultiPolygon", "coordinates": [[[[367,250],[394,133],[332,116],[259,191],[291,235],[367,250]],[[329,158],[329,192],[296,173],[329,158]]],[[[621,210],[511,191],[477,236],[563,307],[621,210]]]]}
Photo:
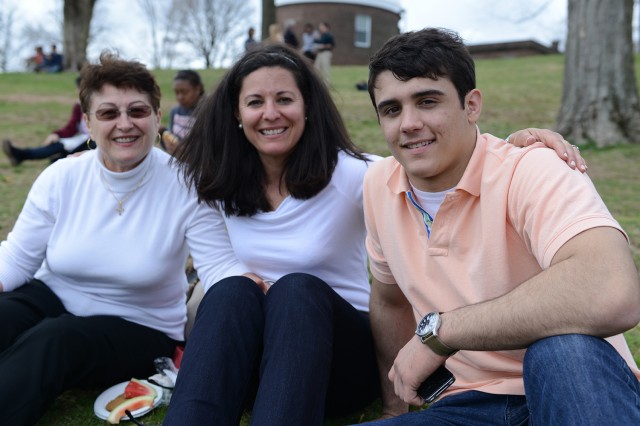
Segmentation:
{"type": "Polygon", "coordinates": [[[308,199],[325,188],[339,150],[366,160],[349,139],[324,81],[307,61],[284,45],[256,47],[240,58],[216,90],[198,104],[194,125],[176,154],[185,181],[195,187],[198,199],[212,206],[223,203],[229,216],[272,210],[265,193],[262,162],[236,118],[244,78],[264,67],[291,72],[304,99],[305,130],[282,172],[292,197],[308,199]]]}

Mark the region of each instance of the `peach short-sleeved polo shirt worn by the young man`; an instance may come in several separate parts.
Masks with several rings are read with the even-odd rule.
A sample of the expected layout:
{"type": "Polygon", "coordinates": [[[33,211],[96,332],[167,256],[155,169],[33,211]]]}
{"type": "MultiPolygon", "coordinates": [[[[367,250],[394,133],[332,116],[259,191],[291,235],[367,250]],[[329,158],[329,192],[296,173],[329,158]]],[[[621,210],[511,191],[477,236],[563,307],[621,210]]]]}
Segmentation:
{"type": "MultiPolygon", "coordinates": [[[[558,249],[590,228],[622,229],[591,180],[541,144],[520,149],[478,134],[469,164],[427,238],[411,186],[393,157],[365,176],[366,247],[373,276],[397,284],[416,321],[501,296],[548,268],[558,249]]],[[[625,234],[626,236],[626,234],[625,234]]],[[[640,378],[623,335],[607,339],[640,378]]],[[[459,351],[444,394],[479,390],[524,395],[524,350],[459,351]]]]}

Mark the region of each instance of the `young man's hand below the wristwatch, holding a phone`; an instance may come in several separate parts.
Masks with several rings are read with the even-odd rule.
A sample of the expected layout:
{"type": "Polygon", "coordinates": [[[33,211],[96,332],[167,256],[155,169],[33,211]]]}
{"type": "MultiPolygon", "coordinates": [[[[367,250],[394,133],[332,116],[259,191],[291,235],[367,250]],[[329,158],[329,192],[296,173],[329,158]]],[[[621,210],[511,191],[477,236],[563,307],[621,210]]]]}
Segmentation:
{"type": "Polygon", "coordinates": [[[389,371],[389,380],[393,382],[396,395],[407,404],[421,407],[424,401],[416,393],[422,382],[439,366],[444,364],[446,357],[436,355],[425,346],[418,337],[409,340],[393,362],[389,371]]]}

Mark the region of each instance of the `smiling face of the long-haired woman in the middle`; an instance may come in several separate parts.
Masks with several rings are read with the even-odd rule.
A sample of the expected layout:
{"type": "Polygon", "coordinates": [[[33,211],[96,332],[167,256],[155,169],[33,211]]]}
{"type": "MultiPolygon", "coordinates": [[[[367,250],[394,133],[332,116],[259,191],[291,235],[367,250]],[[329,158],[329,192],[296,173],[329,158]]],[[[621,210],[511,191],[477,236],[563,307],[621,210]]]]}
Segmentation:
{"type": "Polygon", "coordinates": [[[265,67],[247,75],[238,105],[238,120],[262,162],[282,163],[305,127],[304,99],[291,72],[265,67]]]}

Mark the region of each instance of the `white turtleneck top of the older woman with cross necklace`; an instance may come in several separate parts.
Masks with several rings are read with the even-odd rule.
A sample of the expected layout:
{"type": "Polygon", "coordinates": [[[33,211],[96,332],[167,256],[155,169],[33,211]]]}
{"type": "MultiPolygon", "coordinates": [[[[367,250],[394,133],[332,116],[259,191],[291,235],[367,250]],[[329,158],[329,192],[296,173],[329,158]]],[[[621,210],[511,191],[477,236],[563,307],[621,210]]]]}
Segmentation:
{"type": "Polygon", "coordinates": [[[11,291],[35,277],[72,314],[120,316],[182,340],[188,253],[205,285],[248,269],[166,153],[154,148],[125,173],[99,158],[96,150],[60,160],[37,178],[0,244],[0,282],[11,291]],[[101,175],[121,200],[140,184],[121,216],[101,175]]]}

